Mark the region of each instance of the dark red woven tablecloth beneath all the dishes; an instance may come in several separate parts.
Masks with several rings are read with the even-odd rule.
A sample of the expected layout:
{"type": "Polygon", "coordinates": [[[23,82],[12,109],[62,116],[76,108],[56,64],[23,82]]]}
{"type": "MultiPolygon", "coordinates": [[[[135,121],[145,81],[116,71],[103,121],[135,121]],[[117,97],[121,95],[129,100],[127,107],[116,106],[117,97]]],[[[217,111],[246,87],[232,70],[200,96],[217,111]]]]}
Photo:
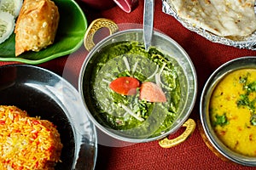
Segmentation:
{"type": "MultiPolygon", "coordinates": [[[[143,24],[143,0],[139,1],[138,7],[130,14],[126,14],[117,6],[105,11],[96,11],[90,10],[82,3],[79,4],[89,24],[97,18],[108,18],[117,24],[143,24]]],[[[160,0],[155,0],[154,27],[178,42],[195,65],[198,76],[198,95],[195,108],[190,115],[195,122],[199,120],[201,90],[212,71],[230,59],[256,55],[256,51],[210,42],[195,32],[187,30],[171,15],[162,12],[160,0]]],[[[87,54],[88,52],[82,46],[73,54],[50,60],[39,66],[54,71],[78,88],[79,71],[87,54]]],[[[14,62],[0,62],[0,65],[12,63],[14,62]]],[[[230,161],[223,161],[213,154],[201,138],[197,126],[189,139],[171,149],[161,148],[158,141],[131,144],[125,147],[108,147],[99,144],[96,169],[253,169],[253,167],[243,167],[230,161]]]]}

